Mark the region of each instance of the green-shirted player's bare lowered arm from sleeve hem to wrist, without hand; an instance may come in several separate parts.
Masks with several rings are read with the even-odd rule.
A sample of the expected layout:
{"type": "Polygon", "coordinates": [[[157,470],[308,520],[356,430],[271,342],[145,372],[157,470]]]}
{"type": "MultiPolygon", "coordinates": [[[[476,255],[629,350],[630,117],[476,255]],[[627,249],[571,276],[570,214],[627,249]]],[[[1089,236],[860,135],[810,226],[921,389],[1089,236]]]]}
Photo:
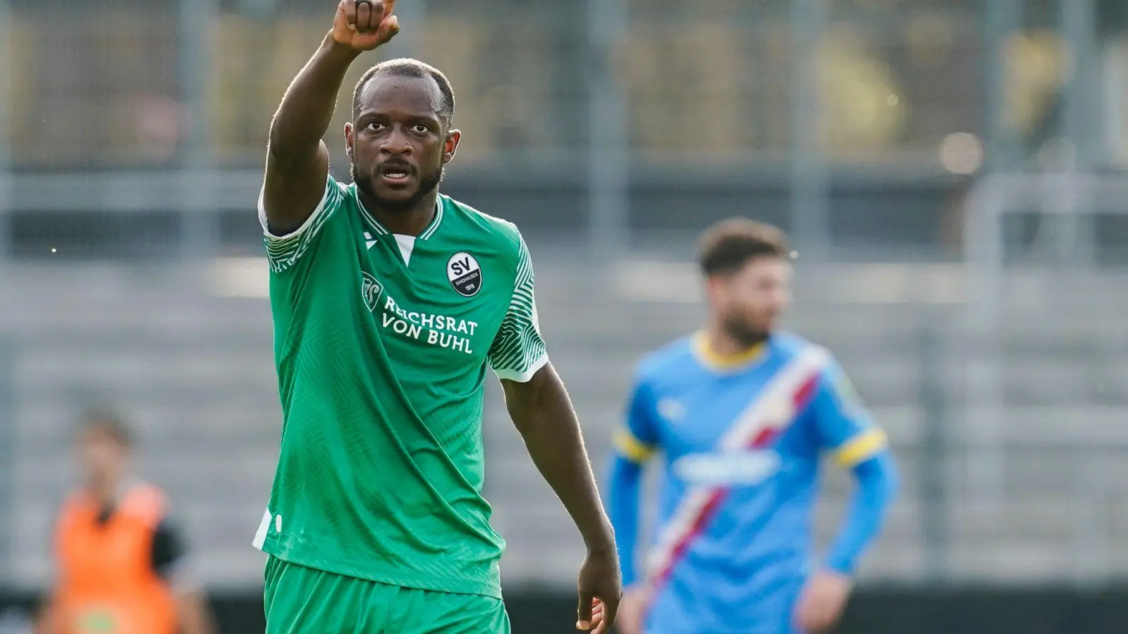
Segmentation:
{"type": "Polygon", "coordinates": [[[588,548],[614,551],[614,531],[599,499],[580,423],[555,370],[546,366],[527,384],[510,384],[505,398],[529,456],[572,516],[588,548]]]}

